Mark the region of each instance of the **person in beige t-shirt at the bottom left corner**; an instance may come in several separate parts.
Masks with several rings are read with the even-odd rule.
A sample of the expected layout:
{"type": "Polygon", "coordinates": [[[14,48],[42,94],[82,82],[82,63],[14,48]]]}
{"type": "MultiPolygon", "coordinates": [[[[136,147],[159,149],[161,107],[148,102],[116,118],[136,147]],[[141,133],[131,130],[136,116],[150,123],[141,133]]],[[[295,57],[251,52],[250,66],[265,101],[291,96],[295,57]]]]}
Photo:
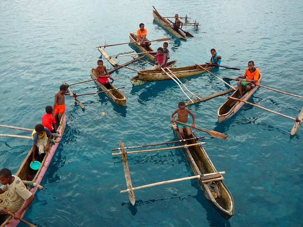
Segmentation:
{"type": "MultiPolygon", "coordinates": [[[[0,207],[15,212],[14,219],[19,220],[35,196],[26,189],[18,176],[12,175],[9,169],[3,168],[0,170],[0,183],[2,184],[0,187],[0,207]],[[22,207],[24,202],[25,204],[22,207]]],[[[0,214],[4,213],[0,211],[0,214]]]]}

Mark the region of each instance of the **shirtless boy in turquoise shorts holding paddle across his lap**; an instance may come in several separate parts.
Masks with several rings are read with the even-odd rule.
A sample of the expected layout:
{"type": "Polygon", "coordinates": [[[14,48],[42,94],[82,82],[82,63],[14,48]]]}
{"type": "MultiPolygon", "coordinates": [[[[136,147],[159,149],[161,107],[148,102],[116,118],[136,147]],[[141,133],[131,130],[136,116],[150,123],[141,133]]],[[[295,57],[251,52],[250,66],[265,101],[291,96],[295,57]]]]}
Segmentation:
{"type": "MultiPolygon", "coordinates": [[[[188,123],[188,113],[189,113],[191,115],[191,117],[192,117],[192,122],[193,122],[192,125],[191,125],[191,127],[195,128],[195,115],[193,113],[191,113],[190,110],[188,110],[188,109],[185,108],[185,102],[179,102],[178,107],[179,108],[176,109],[175,112],[171,114],[171,118],[170,118],[171,122],[174,122],[174,119],[172,119],[172,117],[176,113],[178,113],[179,121],[189,124],[188,123]]],[[[178,127],[178,130],[179,130],[179,133],[180,133],[181,137],[184,140],[186,138],[185,138],[185,135],[183,133],[183,128],[185,128],[186,135],[188,137],[191,135],[191,129],[190,129],[190,127],[185,126],[185,125],[181,125],[181,124],[178,124],[178,123],[177,123],[177,127],[178,127]]],[[[187,141],[185,141],[185,143],[187,144],[187,141]]]]}

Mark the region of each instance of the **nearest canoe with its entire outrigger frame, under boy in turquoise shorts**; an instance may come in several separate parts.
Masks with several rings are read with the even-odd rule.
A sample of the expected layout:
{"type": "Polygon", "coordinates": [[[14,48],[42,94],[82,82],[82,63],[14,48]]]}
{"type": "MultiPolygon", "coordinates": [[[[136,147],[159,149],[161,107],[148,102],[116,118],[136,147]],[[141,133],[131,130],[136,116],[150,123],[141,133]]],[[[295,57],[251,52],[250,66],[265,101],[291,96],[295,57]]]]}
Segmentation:
{"type": "Polygon", "coordinates": [[[207,153],[205,152],[202,146],[202,144],[205,144],[205,142],[199,141],[199,139],[204,138],[204,136],[197,137],[195,133],[191,131],[191,136],[183,140],[179,134],[176,125],[174,124],[172,127],[173,129],[175,129],[175,133],[178,138],[177,141],[142,145],[142,146],[131,146],[131,147],[125,147],[124,143],[122,143],[121,140],[119,141],[119,148],[113,149],[112,151],[119,150],[120,152],[112,153],[112,155],[121,155],[121,159],[122,159],[127,189],[121,190],[120,193],[128,192],[128,199],[132,204],[132,206],[135,206],[136,199],[135,199],[134,190],[162,185],[162,184],[175,183],[184,180],[196,179],[201,191],[203,192],[205,198],[210,203],[210,205],[213,206],[215,210],[220,215],[222,215],[222,217],[224,217],[225,219],[230,219],[231,216],[234,215],[234,200],[231,196],[231,193],[228,191],[227,187],[222,182],[222,179],[224,179],[222,174],[225,174],[225,172],[218,172],[215,169],[215,166],[211,162],[210,158],[208,157],[207,153]],[[185,144],[185,141],[187,141],[188,145],[185,144]],[[133,148],[140,148],[147,146],[157,146],[157,145],[164,145],[169,143],[180,143],[180,146],[126,152],[126,149],[133,149],[133,148]],[[132,179],[129,171],[128,160],[127,160],[128,154],[169,150],[169,149],[177,149],[177,148],[181,148],[183,150],[185,158],[187,159],[188,164],[194,176],[166,180],[162,182],[151,183],[148,185],[133,187],[132,179]]]}

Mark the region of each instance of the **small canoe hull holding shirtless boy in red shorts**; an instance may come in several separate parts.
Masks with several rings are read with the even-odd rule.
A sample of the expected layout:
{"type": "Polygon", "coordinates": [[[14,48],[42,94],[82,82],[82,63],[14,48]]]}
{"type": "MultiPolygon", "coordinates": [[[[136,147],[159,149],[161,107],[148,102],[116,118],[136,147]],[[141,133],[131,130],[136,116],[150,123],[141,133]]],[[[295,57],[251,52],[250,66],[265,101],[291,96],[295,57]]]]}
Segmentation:
{"type": "MultiPolygon", "coordinates": [[[[91,76],[93,79],[97,79],[97,74],[96,74],[95,68],[91,68],[90,73],[91,73],[91,76]]],[[[104,91],[108,90],[99,81],[96,80],[95,82],[102,90],[104,90],[104,91]]],[[[111,86],[110,89],[116,89],[116,87],[114,85],[112,85],[111,83],[109,83],[109,84],[111,86]]],[[[122,107],[126,106],[126,96],[120,90],[112,90],[109,92],[105,92],[105,94],[119,106],[122,106],[122,107]]]]}

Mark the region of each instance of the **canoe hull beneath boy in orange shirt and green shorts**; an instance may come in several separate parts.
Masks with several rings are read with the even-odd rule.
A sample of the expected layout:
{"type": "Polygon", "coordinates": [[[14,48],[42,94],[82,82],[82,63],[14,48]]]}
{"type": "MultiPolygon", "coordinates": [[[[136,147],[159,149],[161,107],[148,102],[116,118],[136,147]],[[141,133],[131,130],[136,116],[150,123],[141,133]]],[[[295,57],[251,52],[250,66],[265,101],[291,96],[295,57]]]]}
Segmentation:
{"type": "MultiPolygon", "coordinates": [[[[260,74],[260,78],[258,80],[257,84],[260,84],[262,80],[262,74],[260,74]]],[[[241,100],[247,101],[249,97],[251,97],[252,94],[258,89],[258,86],[254,87],[250,91],[248,91],[242,98],[241,100]]],[[[231,97],[239,98],[240,93],[239,90],[235,90],[235,92],[231,95],[231,97]]],[[[228,99],[225,101],[225,103],[219,107],[217,111],[218,115],[218,122],[222,122],[232,116],[234,116],[235,113],[238,112],[238,110],[244,105],[243,102],[239,102],[236,100],[228,99]]]]}

